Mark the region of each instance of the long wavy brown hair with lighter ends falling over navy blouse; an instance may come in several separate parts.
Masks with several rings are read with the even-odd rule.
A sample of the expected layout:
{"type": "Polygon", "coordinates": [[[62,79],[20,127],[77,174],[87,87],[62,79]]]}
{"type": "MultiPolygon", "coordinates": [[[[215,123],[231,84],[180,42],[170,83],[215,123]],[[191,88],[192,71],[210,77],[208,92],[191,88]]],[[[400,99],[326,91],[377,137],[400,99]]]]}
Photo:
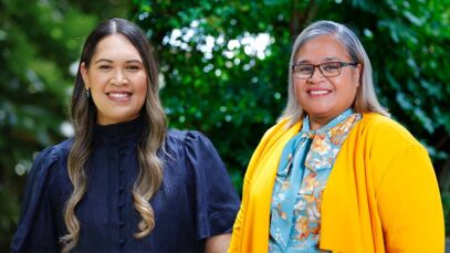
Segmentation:
{"type": "Polygon", "coordinates": [[[60,239],[63,252],[70,252],[76,246],[80,238],[80,221],[75,210],[87,190],[85,169],[93,152],[93,133],[97,114],[94,102],[86,96],[80,66],[85,63],[88,68],[98,42],[112,34],[123,34],[129,40],[139,52],[148,76],[147,97],[140,113],[144,130],[137,147],[140,168],[133,187],[134,208],[140,215],[140,222],[134,236],[142,239],[148,235],[155,226],[154,211],[149,200],[161,185],[163,161],[158,158],[157,152],[164,145],[167,131],[166,115],[158,95],[158,68],[153,56],[153,49],[144,32],[136,24],[115,18],[100,24],[87,36],[75,78],[71,102],[71,119],[75,128],[75,137],[67,161],[73,192],[64,209],[64,222],[69,233],[60,239]]]}

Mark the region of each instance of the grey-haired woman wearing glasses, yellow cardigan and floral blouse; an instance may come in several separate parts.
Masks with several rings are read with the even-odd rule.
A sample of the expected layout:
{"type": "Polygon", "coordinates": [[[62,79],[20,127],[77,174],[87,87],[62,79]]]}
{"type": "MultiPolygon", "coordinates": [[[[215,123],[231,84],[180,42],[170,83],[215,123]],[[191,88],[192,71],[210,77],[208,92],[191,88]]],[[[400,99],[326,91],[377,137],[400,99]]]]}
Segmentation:
{"type": "Polygon", "coordinates": [[[379,105],[357,36],[308,25],[287,88],[247,170],[230,252],[443,252],[431,161],[379,105]]]}

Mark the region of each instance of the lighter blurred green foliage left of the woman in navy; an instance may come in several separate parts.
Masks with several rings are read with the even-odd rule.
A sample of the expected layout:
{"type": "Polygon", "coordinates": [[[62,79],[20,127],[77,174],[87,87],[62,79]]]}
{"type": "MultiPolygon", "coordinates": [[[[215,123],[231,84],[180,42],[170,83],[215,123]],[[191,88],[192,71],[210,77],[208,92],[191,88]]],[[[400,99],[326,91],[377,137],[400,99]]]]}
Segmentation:
{"type": "MultiPolygon", "coordinates": [[[[90,9],[101,17],[79,4],[0,2],[0,252],[8,251],[17,229],[23,176],[33,155],[64,138],[70,66],[76,64],[86,34],[106,17],[105,1],[90,9]]],[[[126,14],[124,7],[115,7],[122,9],[115,13],[126,14]]]]}

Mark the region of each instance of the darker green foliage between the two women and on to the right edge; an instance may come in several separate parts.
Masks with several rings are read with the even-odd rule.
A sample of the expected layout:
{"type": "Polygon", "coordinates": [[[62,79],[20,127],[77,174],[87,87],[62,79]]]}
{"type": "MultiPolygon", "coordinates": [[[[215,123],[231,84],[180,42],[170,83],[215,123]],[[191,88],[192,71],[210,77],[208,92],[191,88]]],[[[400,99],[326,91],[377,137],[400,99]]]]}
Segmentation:
{"type": "Polygon", "coordinates": [[[321,19],[346,23],[360,36],[380,101],[427,146],[438,173],[448,158],[448,1],[135,0],[134,4],[135,20],[147,31],[160,61],[170,125],[206,133],[239,190],[254,147],[285,105],[293,39],[321,19]],[[245,38],[261,33],[271,38],[264,57],[245,52],[245,38]],[[230,46],[234,40],[240,46],[230,46]]]}

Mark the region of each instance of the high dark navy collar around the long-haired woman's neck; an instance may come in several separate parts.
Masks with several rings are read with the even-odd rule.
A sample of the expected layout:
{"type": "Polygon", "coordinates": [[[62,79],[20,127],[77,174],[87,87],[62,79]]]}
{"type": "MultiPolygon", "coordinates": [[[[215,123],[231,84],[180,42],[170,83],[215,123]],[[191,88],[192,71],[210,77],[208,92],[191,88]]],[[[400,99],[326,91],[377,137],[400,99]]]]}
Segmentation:
{"type": "Polygon", "coordinates": [[[136,143],[143,133],[142,116],[136,119],[102,126],[96,124],[94,129],[95,143],[100,145],[127,146],[136,143]]]}

